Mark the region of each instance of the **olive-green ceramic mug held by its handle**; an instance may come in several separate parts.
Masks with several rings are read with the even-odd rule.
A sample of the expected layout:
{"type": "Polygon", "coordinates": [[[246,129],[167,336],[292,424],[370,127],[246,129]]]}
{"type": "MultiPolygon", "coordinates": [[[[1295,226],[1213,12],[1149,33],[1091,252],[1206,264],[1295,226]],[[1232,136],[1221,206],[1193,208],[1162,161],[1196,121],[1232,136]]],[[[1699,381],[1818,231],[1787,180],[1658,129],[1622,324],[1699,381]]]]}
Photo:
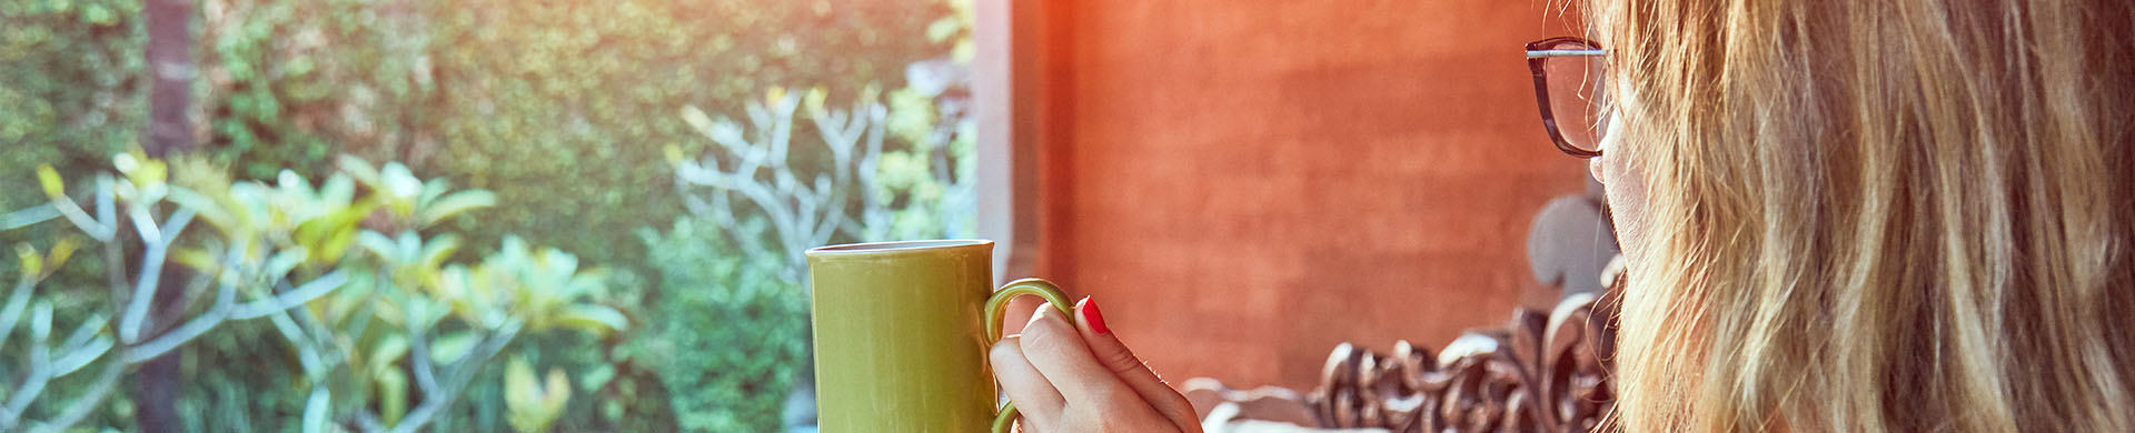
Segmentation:
{"type": "MultiPolygon", "coordinates": [[[[993,241],[890,241],[807,252],[816,326],[816,414],[826,433],[1006,433],[986,350],[1010,299],[1068,314],[1044,279],[993,290],[993,241]]],[[[1074,314],[1068,314],[1074,320],[1074,314]]]]}

